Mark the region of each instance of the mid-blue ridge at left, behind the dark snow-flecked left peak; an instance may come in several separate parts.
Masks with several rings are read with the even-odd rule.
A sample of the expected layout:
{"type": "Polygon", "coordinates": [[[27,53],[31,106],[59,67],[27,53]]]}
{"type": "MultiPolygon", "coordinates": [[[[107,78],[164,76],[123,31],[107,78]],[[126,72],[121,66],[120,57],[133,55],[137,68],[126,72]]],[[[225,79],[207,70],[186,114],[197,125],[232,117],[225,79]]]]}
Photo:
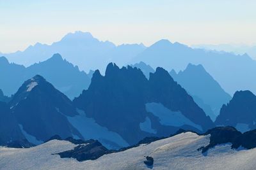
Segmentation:
{"type": "Polygon", "coordinates": [[[0,57],[0,89],[8,96],[14,94],[25,80],[40,74],[66,94],[70,99],[79,96],[90,85],[90,78],[84,71],[79,71],[61,55],[56,53],[44,62],[33,64],[29,67],[9,63],[4,57],[0,57]]]}

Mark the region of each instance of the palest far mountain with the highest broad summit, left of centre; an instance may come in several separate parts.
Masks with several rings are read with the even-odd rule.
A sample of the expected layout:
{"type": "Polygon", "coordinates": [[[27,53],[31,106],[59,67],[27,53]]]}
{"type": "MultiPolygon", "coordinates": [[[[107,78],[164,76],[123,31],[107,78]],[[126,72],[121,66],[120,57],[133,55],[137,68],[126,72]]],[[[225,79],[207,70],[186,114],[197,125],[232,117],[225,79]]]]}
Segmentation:
{"type": "Polygon", "coordinates": [[[125,65],[132,57],[145,50],[144,45],[119,45],[109,41],[99,41],[89,32],[76,31],[68,33],[52,45],[36,43],[24,52],[4,53],[10,62],[30,66],[36,62],[49,59],[54,53],[60,53],[63,59],[79,66],[84,71],[90,69],[104,70],[109,62],[125,65]]]}

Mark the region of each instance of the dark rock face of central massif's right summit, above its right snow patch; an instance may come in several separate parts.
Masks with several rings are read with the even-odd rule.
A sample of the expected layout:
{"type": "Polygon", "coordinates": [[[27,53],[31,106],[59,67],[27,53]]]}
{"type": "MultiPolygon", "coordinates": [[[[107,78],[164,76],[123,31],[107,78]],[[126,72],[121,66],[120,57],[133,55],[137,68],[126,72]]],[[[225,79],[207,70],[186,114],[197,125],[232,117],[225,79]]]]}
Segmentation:
{"type": "Polygon", "coordinates": [[[162,103],[172,111],[180,111],[195,124],[202,125],[204,131],[212,127],[211,119],[163,68],[157,67],[156,73],[150,74],[149,83],[152,92],[150,101],[162,103]]]}

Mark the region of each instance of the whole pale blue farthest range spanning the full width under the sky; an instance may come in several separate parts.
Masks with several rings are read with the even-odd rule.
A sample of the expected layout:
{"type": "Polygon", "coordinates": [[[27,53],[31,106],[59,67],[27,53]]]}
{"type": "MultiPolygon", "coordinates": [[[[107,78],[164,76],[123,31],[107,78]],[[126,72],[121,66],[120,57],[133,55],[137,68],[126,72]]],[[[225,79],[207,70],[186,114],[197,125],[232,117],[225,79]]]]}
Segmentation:
{"type": "Polygon", "coordinates": [[[28,67],[35,62],[49,59],[54,53],[60,53],[63,59],[86,72],[99,69],[103,73],[109,62],[127,66],[143,61],[153,69],[163,67],[168,71],[174,69],[176,72],[184,70],[189,63],[202,64],[228,94],[233,95],[237,90],[256,92],[256,84],[252,81],[256,78],[256,61],[247,54],[235,55],[194,49],[180,43],[171,43],[166,39],[161,39],[148,47],[142,44],[116,46],[109,41],[93,38],[89,32],[77,31],[68,33],[52,45],[36,43],[24,52],[1,55],[10,62],[28,67]]]}

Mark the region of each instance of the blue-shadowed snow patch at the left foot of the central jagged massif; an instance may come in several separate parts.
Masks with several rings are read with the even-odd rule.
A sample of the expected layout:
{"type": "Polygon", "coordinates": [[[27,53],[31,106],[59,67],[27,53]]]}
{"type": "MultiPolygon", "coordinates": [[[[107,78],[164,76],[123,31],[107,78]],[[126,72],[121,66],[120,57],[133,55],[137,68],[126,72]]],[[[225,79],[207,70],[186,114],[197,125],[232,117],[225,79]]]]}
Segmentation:
{"type": "Polygon", "coordinates": [[[97,139],[109,149],[129,146],[119,134],[100,126],[93,118],[86,117],[84,111],[77,109],[77,112],[79,115],[76,117],[67,117],[67,119],[80,132],[84,139],[97,139]]]}

